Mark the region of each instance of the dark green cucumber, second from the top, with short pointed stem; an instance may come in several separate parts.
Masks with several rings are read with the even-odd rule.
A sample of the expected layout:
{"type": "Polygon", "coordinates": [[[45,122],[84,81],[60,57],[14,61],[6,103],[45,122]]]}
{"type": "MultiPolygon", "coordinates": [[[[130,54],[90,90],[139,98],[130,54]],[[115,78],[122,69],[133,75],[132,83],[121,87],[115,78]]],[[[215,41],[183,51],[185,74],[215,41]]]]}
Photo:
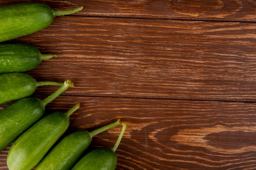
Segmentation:
{"type": "Polygon", "coordinates": [[[0,44],[0,74],[29,71],[52,57],[57,55],[41,54],[29,44],[0,44]]]}

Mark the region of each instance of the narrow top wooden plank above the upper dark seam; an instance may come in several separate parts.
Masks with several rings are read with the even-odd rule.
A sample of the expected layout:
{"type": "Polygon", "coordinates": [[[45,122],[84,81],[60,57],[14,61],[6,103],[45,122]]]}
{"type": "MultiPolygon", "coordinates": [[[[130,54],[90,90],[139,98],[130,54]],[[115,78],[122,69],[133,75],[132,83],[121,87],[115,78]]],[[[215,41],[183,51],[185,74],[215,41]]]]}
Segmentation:
{"type": "MultiPolygon", "coordinates": [[[[45,2],[54,9],[83,6],[76,15],[121,18],[159,18],[181,20],[256,21],[255,0],[9,0],[45,2]]],[[[0,4],[6,4],[2,1],[0,4]]]]}

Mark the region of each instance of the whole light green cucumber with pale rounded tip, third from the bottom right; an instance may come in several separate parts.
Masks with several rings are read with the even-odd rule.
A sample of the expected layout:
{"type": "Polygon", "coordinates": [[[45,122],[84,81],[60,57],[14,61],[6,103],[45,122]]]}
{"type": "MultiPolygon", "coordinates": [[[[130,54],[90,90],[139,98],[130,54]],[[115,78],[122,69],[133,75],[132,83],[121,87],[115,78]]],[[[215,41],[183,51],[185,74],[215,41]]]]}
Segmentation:
{"type": "Polygon", "coordinates": [[[34,168],[67,130],[70,115],[79,107],[80,104],[76,104],[67,113],[54,112],[46,115],[20,135],[7,155],[9,170],[34,168]]]}

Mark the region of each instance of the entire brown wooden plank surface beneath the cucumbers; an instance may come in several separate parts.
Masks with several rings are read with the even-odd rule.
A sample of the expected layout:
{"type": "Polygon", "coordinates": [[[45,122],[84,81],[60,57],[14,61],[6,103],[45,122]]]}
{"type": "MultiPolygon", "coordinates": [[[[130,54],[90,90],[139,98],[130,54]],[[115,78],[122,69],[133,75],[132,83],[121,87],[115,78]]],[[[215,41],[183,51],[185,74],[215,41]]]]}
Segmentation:
{"type": "MultiPolygon", "coordinates": [[[[60,56],[28,73],[74,82],[46,107],[67,111],[81,102],[68,132],[127,123],[117,170],[256,169],[255,0],[35,1],[84,7],[11,42],[60,56]]],[[[0,4],[17,2],[31,1],[0,4]]],[[[55,90],[39,87],[34,96],[55,90]]],[[[91,146],[112,147],[120,129],[91,146]]],[[[1,170],[8,150],[0,152],[1,170]]]]}

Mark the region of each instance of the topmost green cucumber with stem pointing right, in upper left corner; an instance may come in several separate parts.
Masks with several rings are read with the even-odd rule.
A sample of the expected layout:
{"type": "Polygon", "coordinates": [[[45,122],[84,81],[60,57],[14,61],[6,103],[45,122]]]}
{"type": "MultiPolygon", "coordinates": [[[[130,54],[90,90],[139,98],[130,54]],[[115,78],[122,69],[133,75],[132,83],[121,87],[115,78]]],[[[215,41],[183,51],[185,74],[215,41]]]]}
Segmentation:
{"type": "Polygon", "coordinates": [[[27,2],[0,6],[0,42],[35,33],[52,24],[54,18],[81,11],[83,7],[54,11],[47,4],[27,2]]]}

